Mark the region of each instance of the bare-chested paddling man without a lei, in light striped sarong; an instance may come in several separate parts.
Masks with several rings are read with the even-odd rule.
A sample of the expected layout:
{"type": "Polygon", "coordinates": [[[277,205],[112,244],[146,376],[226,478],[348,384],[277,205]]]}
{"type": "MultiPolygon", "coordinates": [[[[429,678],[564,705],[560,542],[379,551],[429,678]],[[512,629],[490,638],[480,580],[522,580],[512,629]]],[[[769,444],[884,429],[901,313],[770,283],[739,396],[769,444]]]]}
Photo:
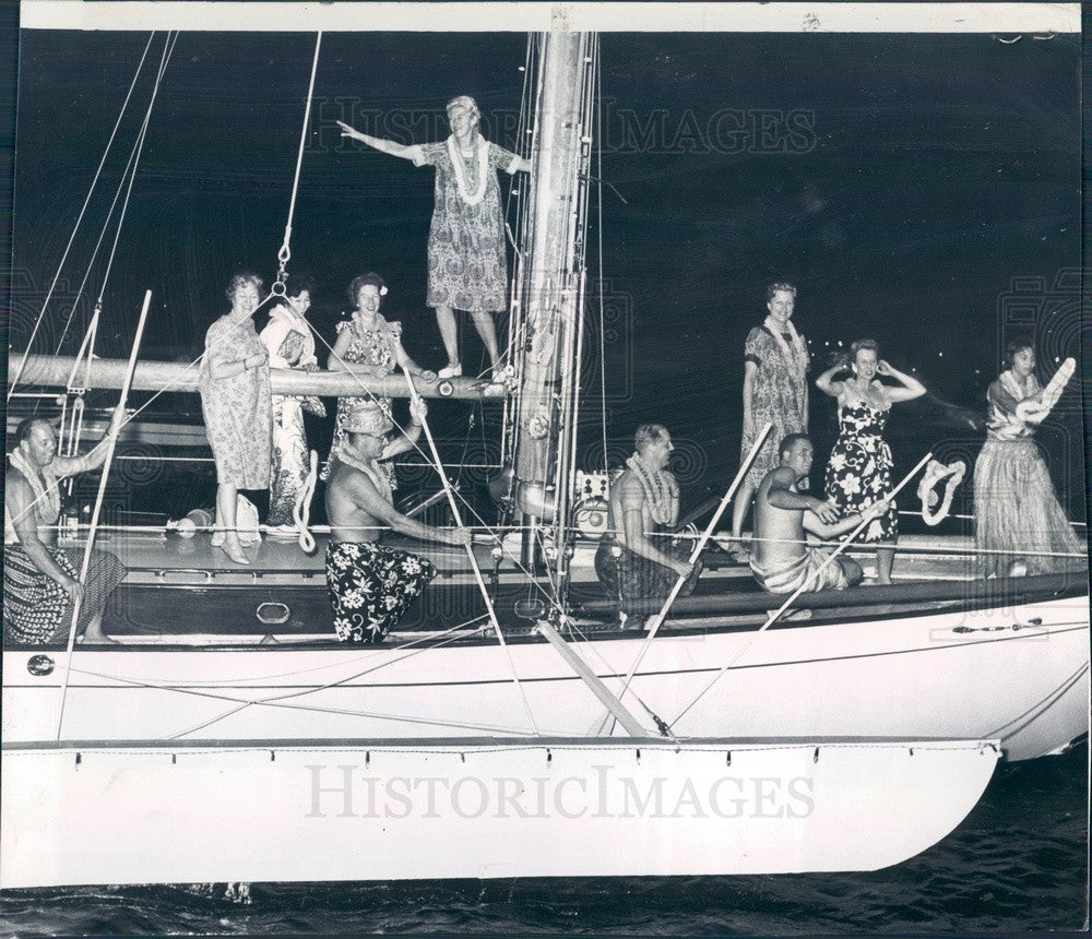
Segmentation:
{"type": "Polygon", "coordinates": [[[839,555],[823,567],[831,551],[808,547],[804,533],[835,538],[888,508],[887,501],[880,500],[863,513],[841,518],[831,502],[800,492],[799,483],[811,472],[814,454],[806,435],[790,433],[781,441],[780,464],[758,487],[750,567],[755,580],[770,593],[845,590],[859,584],[864,578],[860,564],[839,555]]]}

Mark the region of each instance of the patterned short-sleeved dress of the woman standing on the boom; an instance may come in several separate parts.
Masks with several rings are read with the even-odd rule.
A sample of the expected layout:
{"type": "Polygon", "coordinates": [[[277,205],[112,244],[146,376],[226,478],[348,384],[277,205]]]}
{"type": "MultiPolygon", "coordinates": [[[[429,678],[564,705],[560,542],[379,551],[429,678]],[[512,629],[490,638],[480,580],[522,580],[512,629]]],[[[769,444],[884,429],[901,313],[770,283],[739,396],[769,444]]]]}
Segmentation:
{"type": "MultiPolygon", "coordinates": [[[[436,203],[428,231],[428,298],[430,307],[470,312],[494,312],[508,307],[508,260],[505,219],[500,212],[497,169],[508,170],[517,156],[488,144],[485,194],[471,205],[459,192],[455,167],[447,142],[416,147],[417,166],[436,167],[436,203]]],[[[465,186],[478,186],[480,159],[475,146],[463,156],[465,186]]]]}

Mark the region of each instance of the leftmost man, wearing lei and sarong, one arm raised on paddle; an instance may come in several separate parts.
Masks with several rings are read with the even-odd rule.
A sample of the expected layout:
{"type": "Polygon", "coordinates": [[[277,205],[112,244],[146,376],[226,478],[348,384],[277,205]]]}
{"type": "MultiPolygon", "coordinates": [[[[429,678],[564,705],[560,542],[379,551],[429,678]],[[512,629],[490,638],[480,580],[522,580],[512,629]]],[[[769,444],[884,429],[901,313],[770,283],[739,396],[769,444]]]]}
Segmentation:
{"type": "Polygon", "coordinates": [[[57,520],[60,480],[102,466],[124,417],[123,407],[115,409],[106,437],[83,456],[58,456],[57,433],[40,417],[28,417],[15,429],[4,491],[5,643],[66,642],[78,601],[76,630],[84,642],[114,641],[103,632],[103,610],[126,575],[124,566],[108,551],[93,550],[86,580],[80,583],[83,548],[57,546],[57,520]]]}

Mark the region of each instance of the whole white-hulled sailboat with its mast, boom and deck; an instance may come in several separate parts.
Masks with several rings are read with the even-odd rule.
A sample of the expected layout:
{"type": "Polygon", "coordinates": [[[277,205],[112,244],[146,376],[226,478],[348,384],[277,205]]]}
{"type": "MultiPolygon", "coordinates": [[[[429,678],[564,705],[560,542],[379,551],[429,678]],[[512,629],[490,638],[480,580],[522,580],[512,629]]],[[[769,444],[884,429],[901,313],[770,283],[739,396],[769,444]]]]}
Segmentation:
{"type": "MultiPolygon", "coordinates": [[[[722,567],[654,638],[618,628],[595,532],[572,524],[607,485],[578,486],[575,461],[597,40],[535,44],[519,387],[499,392],[514,534],[430,550],[419,615],[361,647],[335,641],[321,563],[295,546],[263,543],[244,570],[204,534],[182,554],[93,519],[78,535],[128,568],[107,625],[122,642],[5,649],[3,887],[875,869],[959,824],[998,759],[1087,733],[1083,573],[974,582],[959,545],[918,583],[791,609],[722,567]]],[[[24,354],[17,375],[63,385],[76,367],[24,354]]],[[[135,349],[80,367],[122,394],[192,381],[135,349]]],[[[273,391],[361,383],[275,375],[273,391]]]]}

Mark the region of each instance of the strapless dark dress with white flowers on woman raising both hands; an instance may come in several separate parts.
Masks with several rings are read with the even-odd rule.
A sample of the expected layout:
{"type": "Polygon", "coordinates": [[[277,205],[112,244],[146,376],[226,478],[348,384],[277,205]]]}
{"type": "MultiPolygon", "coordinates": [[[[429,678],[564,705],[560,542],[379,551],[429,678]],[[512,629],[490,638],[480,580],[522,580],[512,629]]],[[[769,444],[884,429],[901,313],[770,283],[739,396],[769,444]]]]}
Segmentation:
{"type": "MultiPolygon", "coordinates": [[[[891,491],[891,448],[883,440],[890,411],[866,402],[845,404],[839,412],[839,437],[827,462],[827,498],[842,515],[860,512],[891,491]]],[[[893,542],[899,535],[895,506],[868,523],[863,542],[893,542]]]]}

